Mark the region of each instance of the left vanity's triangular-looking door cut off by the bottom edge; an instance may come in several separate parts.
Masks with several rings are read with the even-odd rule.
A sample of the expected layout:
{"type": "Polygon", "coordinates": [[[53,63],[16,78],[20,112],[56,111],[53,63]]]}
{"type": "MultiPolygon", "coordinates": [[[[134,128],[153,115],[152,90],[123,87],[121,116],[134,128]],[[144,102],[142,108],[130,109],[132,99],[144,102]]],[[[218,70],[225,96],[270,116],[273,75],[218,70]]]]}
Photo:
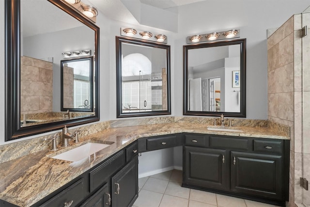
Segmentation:
{"type": "Polygon", "coordinates": [[[106,183],[102,188],[96,191],[88,198],[81,207],[109,207],[111,206],[111,193],[109,191],[109,183],[106,183]]]}

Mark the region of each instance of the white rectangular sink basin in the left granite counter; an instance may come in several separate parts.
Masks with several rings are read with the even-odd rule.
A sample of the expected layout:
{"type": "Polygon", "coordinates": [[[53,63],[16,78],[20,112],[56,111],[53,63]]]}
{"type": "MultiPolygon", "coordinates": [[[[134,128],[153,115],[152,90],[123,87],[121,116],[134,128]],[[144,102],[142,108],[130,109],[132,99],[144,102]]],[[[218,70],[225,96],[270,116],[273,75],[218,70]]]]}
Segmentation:
{"type": "Polygon", "coordinates": [[[54,159],[62,159],[67,161],[76,162],[81,159],[88,158],[90,155],[98,152],[106,147],[109,144],[102,144],[102,143],[87,143],[77,148],[71,149],[69,151],[63,152],[62,154],[56,155],[52,158],[54,159]]]}

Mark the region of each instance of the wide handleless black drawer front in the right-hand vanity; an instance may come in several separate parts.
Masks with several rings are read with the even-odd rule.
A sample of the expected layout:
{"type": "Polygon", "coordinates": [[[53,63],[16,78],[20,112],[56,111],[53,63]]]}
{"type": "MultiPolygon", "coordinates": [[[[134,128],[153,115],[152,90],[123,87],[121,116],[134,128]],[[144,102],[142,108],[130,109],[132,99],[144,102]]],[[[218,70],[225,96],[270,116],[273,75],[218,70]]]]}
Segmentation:
{"type": "Polygon", "coordinates": [[[210,136],[210,147],[224,148],[224,149],[250,149],[250,142],[248,139],[234,138],[234,137],[220,137],[210,136]]]}

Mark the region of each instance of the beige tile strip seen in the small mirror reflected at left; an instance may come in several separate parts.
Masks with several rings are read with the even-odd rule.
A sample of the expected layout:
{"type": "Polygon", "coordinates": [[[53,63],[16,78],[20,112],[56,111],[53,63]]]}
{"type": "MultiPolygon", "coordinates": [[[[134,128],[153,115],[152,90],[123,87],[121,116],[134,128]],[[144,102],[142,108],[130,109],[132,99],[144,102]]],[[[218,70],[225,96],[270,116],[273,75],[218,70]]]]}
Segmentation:
{"type": "Polygon", "coordinates": [[[73,107],[74,74],[73,67],[63,66],[63,108],[73,107]]]}

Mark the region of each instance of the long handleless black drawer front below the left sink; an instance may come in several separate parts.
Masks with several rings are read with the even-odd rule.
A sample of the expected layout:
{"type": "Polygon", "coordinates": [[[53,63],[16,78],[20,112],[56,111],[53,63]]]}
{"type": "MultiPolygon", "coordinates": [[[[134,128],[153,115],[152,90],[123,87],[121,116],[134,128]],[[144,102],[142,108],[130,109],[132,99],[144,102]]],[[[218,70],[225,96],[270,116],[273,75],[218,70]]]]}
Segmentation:
{"type": "Polygon", "coordinates": [[[97,189],[109,181],[111,175],[125,165],[124,150],[117,152],[111,158],[93,169],[90,175],[90,191],[97,189]]]}

